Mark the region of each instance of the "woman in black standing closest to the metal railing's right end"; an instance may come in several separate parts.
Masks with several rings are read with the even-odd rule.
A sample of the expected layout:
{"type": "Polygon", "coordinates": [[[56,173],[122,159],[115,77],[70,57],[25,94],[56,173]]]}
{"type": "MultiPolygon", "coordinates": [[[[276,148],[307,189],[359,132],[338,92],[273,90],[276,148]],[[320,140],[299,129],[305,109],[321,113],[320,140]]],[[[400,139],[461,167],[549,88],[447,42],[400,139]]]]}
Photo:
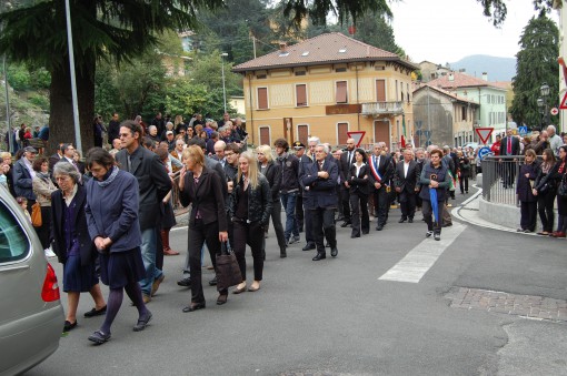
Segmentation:
{"type": "Polygon", "coordinates": [[[533,233],[536,231],[537,199],[533,189],[537,177],[539,163],[536,162],[536,152],[531,149],[526,151],[525,163],[520,165],[516,194],[520,202],[520,227],[518,232],[533,233]]]}

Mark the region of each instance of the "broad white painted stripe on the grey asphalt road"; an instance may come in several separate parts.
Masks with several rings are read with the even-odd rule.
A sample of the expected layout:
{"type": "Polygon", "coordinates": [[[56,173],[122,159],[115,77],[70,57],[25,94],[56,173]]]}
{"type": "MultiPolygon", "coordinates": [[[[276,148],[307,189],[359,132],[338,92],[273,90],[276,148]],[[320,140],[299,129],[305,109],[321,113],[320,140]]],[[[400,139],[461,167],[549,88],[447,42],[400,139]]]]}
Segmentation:
{"type": "MultiPolygon", "coordinates": [[[[452,222],[452,226],[442,228],[440,241],[434,240],[432,236],[425,238],[378,280],[419,283],[465,228],[466,225],[452,222]]],[[[424,228],[424,236],[425,232],[424,228]]]]}

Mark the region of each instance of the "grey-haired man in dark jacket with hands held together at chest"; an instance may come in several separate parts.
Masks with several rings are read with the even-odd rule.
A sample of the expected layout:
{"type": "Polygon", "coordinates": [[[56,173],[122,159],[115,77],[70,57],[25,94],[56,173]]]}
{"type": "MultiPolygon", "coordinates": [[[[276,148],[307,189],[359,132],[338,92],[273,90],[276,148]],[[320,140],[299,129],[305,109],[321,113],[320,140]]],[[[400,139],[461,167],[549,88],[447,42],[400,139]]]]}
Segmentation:
{"type": "Polygon", "coordinates": [[[328,160],[329,149],[326,145],[315,148],[316,161],[306,165],[301,176],[301,186],[306,192],[304,204],[310,211],[312,234],[317,246],[317,255],[312,258],[326,258],[324,237],[331,248],[331,256],[336,257],[337,234],[335,228],[335,210],[338,200],[336,194],[337,179],[339,176],[337,163],[328,160]]]}

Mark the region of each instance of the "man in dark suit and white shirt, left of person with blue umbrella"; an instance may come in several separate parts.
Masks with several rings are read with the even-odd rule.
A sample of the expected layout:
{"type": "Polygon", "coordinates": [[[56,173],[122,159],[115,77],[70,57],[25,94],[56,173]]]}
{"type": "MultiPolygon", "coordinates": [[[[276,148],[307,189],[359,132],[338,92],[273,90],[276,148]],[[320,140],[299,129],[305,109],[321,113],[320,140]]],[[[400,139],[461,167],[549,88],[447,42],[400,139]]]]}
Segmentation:
{"type": "Polygon", "coordinates": [[[399,223],[408,221],[414,222],[414,215],[416,214],[416,193],[418,191],[417,181],[419,166],[414,160],[414,152],[410,149],[404,151],[404,160],[399,161],[396,165],[394,173],[394,185],[398,193],[400,206],[401,206],[401,219],[399,223]]]}

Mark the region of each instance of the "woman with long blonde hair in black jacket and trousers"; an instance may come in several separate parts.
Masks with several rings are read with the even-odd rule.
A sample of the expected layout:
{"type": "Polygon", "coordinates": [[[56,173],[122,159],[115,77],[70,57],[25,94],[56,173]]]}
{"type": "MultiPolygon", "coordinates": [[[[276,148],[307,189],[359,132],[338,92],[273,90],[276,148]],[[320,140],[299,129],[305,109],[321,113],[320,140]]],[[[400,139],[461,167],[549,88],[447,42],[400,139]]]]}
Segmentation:
{"type": "Polygon", "coordinates": [[[240,266],[242,282],[233,289],[235,294],[246,291],[246,245],[252,251],[253,282],[249,292],[260,289],[263,271],[263,228],[271,214],[271,192],[268,180],[258,172],[258,161],[251,152],[243,152],[238,159],[238,173],[229,205],[235,225],[232,250],[240,266]]]}

